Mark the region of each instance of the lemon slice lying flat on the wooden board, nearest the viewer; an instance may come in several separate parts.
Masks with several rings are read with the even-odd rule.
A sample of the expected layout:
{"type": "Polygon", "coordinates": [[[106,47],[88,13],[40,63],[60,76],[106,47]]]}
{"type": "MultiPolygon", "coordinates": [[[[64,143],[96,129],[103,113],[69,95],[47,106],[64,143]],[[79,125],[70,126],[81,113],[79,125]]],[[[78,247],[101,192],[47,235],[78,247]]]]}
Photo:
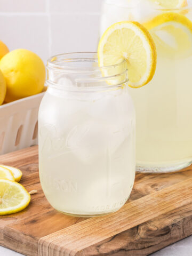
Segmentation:
{"type": "Polygon", "coordinates": [[[20,183],[0,179],[0,215],[20,212],[29,202],[30,195],[20,183]]]}

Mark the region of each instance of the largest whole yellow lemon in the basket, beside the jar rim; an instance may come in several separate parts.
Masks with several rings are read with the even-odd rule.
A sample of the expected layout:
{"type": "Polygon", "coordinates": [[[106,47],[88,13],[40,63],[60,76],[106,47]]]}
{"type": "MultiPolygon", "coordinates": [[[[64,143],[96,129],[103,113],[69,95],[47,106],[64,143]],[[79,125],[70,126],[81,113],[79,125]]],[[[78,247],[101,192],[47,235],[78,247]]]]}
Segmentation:
{"type": "Polygon", "coordinates": [[[42,92],[45,83],[45,66],[34,52],[17,49],[0,60],[7,91],[5,101],[11,102],[42,92]]]}

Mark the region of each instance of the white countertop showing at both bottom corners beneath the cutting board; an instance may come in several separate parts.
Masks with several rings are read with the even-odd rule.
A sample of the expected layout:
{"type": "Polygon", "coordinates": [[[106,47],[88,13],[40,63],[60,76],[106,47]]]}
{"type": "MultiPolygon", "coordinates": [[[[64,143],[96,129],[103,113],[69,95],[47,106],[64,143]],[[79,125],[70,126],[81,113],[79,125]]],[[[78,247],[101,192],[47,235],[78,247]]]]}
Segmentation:
{"type": "MultiPolygon", "coordinates": [[[[22,256],[18,252],[13,252],[0,246],[1,256],[22,256]]],[[[164,249],[150,254],[150,256],[190,256],[192,255],[192,236],[189,236],[175,244],[165,247],[164,249]]]]}

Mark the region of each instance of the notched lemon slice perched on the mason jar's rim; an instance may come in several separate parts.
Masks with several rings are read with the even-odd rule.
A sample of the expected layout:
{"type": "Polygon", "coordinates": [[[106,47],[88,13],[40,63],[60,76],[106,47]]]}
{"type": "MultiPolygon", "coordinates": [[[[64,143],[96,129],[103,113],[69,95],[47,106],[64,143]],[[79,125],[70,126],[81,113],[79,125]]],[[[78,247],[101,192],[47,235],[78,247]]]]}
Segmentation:
{"type": "Polygon", "coordinates": [[[155,44],[147,29],[138,22],[115,23],[100,39],[100,67],[115,65],[124,59],[130,87],[141,87],[153,78],[157,59],[155,44]]]}

